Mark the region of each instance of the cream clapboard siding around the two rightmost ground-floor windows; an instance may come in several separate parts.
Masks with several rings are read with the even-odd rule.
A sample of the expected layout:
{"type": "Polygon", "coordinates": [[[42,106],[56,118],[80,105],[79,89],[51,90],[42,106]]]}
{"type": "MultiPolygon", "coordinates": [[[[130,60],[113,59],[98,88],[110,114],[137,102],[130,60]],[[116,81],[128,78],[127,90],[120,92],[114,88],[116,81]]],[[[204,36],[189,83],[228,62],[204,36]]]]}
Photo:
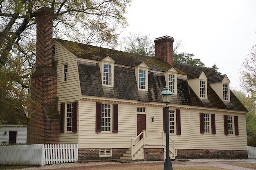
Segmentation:
{"type": "MultiPolygon", "coordinates": [[[[216,150],[247,150],[246,122],[243,113],[223,113],[219,111],[191,110],[191,149],[216,149],[216,150]],[[216,134],[200,133],[199,113],[215,114],[216,134]],[[238,116],[239,136],[224,134],[223,115],[238,116]]],[[[211,127],[211,125],[210,125],[211,127]]],[[[183,127],[182,127],[183,130],[183,127]]],[[[234,131],[234,129],[233,129],[234,131]]],[[[176,141],[177,142],[177,141],[176,141]]],[[[176,145],[177,146],[177,145],[176,145]]],[[[177,147],[176,147],[177,148],[177,147]]]]}

